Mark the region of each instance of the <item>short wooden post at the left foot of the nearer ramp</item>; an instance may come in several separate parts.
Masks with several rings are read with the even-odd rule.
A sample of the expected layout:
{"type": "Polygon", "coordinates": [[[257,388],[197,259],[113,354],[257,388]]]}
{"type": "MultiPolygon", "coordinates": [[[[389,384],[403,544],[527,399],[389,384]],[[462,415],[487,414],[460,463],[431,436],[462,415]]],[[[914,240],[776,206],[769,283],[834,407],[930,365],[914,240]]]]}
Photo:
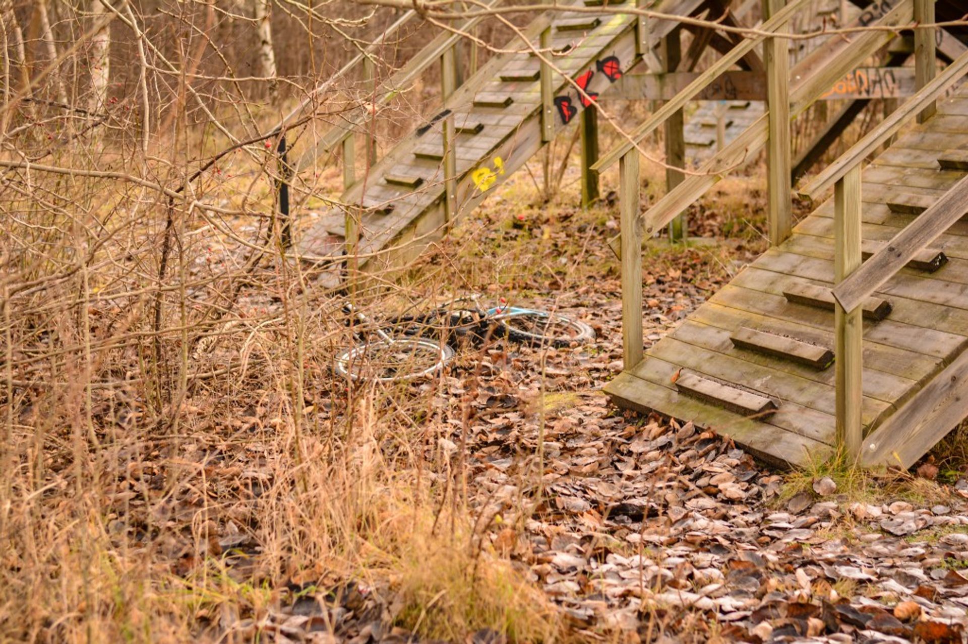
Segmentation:
{"type": "Polygon", "coordinates": [[[642,213],[639,212],[639,150],[619,160],[621,232],[621,355],[631,369],[642,362],[642,213]]]}

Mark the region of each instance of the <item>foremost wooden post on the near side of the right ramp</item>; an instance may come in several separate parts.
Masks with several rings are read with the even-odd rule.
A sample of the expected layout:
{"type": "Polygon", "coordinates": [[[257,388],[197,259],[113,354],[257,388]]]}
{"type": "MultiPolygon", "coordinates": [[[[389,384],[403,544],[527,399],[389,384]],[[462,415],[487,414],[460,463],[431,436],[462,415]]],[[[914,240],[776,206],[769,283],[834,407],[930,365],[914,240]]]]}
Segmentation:
{"type": "MultiPolygon", "coordinates": [[[[833,191],[833,280],[843,281],[861,266],[861,166],[855,165],[833,191]]],[[[836,336],[836,447],[855,459],[862,442],[862,307],[847,311],[837,302],[833,313],[836,336]]]]}

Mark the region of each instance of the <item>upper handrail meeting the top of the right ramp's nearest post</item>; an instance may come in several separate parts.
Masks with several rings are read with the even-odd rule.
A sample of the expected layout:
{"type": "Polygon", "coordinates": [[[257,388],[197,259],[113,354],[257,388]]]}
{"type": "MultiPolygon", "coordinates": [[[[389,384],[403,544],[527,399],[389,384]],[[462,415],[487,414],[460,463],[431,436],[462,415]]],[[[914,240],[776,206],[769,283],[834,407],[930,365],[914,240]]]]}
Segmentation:
{"type": "Polygon", "coordinates": [[[944,94],[965,73],[968,73],[968,52],[958,58],[931,82],[924,85],[921,91],[905,101],[895,109],[876,128],[855,143],[840,158],[833,161],[827,168],[813,178],[797,193],[804,199],[816,199],[817,196],[830,190],[836,182],[843,178],[847,171],[862,162],[868,155],[877,150],[885,141],[899,131],[907,121],[917,116],[927,105],[944,94]]]}

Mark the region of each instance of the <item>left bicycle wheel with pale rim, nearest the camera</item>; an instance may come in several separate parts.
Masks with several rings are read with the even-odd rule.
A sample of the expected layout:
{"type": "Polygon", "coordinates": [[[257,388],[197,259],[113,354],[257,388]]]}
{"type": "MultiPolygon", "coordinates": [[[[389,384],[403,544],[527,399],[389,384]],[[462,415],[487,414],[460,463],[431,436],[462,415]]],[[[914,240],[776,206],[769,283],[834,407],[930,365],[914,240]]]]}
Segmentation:
{"type": "Polygon", "coordinates": [[[364,342],[337,354],[333,368],[350,380],[400,382],[437,375],[454,350],[418,337],[364,342]]]}

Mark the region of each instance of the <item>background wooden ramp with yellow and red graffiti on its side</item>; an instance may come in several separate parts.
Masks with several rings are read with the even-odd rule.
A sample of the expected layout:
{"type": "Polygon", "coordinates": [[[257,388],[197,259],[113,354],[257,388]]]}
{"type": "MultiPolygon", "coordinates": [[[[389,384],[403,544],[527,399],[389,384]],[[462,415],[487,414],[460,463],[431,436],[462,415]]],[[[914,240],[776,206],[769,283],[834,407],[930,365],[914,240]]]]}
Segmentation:
{"type": "MultiPolygon", "coordinates": [[[[610,0],[609,5],[631,1],[610,0]]],[[[562,9],[601,4],[601,0],[573,1],[564,3],[562,9]]],[[[703,4],[703,0],[664,0],[660,10],[690,15],[703,4]]],[[[570,81],[584,84],[590,95],[607,94],[620,74],[641,60],[640,50],[653,48],[677,24],[653,20],[646,43],[637,44],[636,23],[635,15],[567,11],[553,19],[548,15],[535,19],[523,33],[530,46],[539,47],[542,31],[549,30],[549,44],[556,52],[553,63],[560,71],[552,74],[550,128],[542,132],[539,59],[527,51],[497,56],[444,103],[443,109],[449,112],[441,114],[446,116],[432,118],[412,132],[370,169],[365,181],[344,193],[342,201],[349,209],[333,208],[317,220],[300,221],[299,255],[312,261],[342,254],[348,210],[357,217],[356,207],[361,265],[369,262],[368,270],[377,270],[418,253],[439,238],[448,219],[469,212],[547,140],[582,120],[585,106],[570,81]],[[448,213],[444,199],[443,126],[447,118],[453,119],[455,128],[455,215],[448,213]],[[374,261],[373,253],[381,250],[384,252],[374,261]]],[[[520,40],[507,48],[527,49],[520,40]]]]}

